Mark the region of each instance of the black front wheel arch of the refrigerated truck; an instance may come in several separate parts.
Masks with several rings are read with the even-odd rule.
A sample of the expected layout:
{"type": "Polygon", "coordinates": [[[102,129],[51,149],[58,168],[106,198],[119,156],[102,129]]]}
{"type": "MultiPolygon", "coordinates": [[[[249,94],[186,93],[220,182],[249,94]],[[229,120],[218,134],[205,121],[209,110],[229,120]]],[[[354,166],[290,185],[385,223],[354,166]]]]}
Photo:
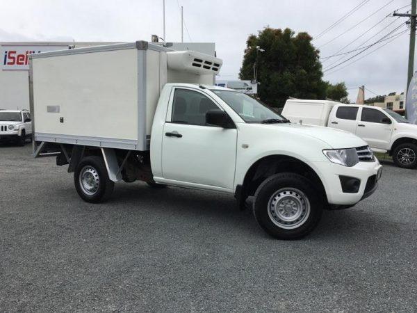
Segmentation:
{"type": "Polygon", "coordinates": [[[247,198],[254,195],[262,182],[279,172],[293,172],[306,177],[313,182],[314,187],[320,192],[327,202],[327,194],[322,179],[306,162],[285,154],[272,154],[255,161],[245,174],[243,185],[240,187],[240,197],[247,198]]]}

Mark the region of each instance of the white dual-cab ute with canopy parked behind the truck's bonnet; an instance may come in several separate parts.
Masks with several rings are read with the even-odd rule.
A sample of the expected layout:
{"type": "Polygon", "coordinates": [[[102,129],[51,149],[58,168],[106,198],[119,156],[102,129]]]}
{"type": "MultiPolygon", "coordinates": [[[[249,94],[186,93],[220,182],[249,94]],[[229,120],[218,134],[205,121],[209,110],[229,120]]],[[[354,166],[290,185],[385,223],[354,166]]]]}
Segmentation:
{"type": "Polygon", "coordinates": [[[400,168],[417,168],[417,125],[389,109],[327,100],[288,99],[282,115],[292,122],[350,131],[375,152],[388,152],[400,168]]]}

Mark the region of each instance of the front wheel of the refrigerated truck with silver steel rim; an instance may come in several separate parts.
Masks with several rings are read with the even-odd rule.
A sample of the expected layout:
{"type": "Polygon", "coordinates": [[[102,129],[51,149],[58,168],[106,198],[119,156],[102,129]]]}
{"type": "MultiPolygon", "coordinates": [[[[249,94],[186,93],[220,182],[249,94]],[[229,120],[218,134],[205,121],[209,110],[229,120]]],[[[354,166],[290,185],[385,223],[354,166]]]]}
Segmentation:
{"type": "Polygon", "coordinates": [[[265,179],[256,190],[253,202],[256,221],[265,232],[277,239],[299,239],[309,234],[320,221],[323,206],[322,196],[309,179],[291,172],[265,179]],[[280,207],[282,211],[275,211],[274,202],[283,205],[280,207]],[[293,210],[297,213],[293,214],[293,210]],[[287,222],[280,218],[297,219],[287,222]]]}

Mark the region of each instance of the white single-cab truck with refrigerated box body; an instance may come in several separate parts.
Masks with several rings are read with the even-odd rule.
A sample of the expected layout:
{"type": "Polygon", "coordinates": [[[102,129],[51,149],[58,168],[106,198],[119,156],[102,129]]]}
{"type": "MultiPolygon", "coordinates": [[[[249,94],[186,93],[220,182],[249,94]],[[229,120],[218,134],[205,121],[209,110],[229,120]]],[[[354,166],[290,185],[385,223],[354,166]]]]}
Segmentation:
{"type": "Polygon", "coordinates": [[[213,86],[221,65],[144,41],[31,55],[34,155],[69,164],[87,202],[120,180],[229,193],[240,207],[253,197],[259,225],[279,239],[375,191],[382,166],[361,138],[291,124],[213,86]]]}

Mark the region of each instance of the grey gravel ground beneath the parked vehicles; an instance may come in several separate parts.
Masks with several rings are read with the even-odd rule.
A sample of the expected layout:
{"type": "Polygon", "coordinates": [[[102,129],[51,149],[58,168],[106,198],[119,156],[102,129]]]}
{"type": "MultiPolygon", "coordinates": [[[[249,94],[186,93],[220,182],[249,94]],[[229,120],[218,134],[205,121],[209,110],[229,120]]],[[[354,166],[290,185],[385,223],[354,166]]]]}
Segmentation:
{"type": "Polygon", "coordinates": [[[373,196],[278,241],[220,193],[120,183],[88,204],[30,153],[0,146],[1,311],[417,310],[416,170],[384,163],[373,196]]]}

